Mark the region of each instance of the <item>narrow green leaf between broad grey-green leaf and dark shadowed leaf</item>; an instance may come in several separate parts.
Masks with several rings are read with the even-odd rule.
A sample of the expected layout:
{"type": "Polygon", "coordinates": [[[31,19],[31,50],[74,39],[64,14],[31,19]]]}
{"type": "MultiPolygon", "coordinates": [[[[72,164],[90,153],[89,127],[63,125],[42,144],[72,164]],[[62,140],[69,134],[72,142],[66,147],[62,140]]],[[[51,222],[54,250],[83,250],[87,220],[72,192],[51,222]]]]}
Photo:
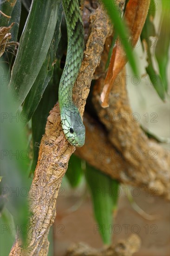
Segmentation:
{"type": "MultiPolygon", "coordinates": [[[[26,96],[26,100],[24,101],[23,109],[21,115],[26,116],[26,121],[29,121],[39,105],[39,101],[42,98],[42,95],[48,85],[49,81],[52,78],[53,67],[56,62],[56,50],[59,45],[59,40],[61,38],[61,20],[63,16],[62,4],[60,4],[59,8],[59,16],[56,24],[56,29],[53,35],[53,39],[49,48],[49,51],[46,55],[46,59],[39,71],[39,74],[36,80],[33,83],[31,90],[26,96]]],[[[56,95],[57,99],[57,95],[56,95]]]]}

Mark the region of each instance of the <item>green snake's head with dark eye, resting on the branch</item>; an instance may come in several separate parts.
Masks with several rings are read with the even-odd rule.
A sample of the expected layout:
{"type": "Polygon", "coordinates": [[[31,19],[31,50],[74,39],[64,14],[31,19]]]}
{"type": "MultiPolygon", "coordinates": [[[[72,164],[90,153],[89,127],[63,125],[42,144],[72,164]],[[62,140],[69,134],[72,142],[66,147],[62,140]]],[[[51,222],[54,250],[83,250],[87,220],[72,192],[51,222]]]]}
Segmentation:
{"type": "Polygon", "coordinates": [[[85,144],[85,126],[77,108],[63,108],[61,112],[61,124],[66,139],[75,147],[85,144]]]}

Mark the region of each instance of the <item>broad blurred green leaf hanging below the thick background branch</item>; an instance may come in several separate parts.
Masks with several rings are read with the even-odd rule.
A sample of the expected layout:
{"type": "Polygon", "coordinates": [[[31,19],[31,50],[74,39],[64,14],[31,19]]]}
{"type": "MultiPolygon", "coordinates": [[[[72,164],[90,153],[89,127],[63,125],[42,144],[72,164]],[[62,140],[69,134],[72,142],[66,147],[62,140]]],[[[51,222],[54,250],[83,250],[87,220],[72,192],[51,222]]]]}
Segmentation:
{"type": "Polygon", "coordinates": [[[87,165],[85,172],[89,184],[94,207],[94,215],[98,222],[95,230],[105,244],[111,244],[113,210],[117,208],[118,182],[87,165]]]}

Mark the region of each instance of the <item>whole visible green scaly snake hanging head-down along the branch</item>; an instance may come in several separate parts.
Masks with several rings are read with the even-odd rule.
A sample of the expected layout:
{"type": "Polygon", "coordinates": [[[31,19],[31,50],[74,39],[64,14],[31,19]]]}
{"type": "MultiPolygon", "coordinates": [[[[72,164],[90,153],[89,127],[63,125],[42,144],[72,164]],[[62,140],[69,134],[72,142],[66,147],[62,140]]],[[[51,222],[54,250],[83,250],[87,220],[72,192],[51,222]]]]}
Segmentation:
{"type": "Polygon", "coordinates": [[[78,0],[62,0],[67,26],[68,46],[65,67],[59,82],[59,108],[66,139],[76,147],[85,143],[85,126],[72,102],[72,88],[83,60],[84,31],[78,0]]]}

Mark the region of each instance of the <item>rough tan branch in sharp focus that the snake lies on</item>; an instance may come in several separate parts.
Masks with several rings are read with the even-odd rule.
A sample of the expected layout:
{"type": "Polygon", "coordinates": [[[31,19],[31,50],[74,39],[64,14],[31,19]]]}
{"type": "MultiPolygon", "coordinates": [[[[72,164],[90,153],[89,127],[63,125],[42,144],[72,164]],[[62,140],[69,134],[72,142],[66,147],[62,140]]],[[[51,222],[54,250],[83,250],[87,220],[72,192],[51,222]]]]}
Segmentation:
{"type": "MultiPolygon", "coordinates": [[[[110,25],[101,7],[91,15],[91,34],[86,44],[84,60],[74,88],[74,100],[83,114],[85,101],[96,67],[100,62],[110,25]],[[80,86],[81,85],[81,86],[80,86]]],[[[68,161],[75,148],[65,139],[61,124],[59,105],[54,106],[46,123],[46,131],[39,148],[39,159],[30,197],[30,227],[26,249],[19,238],[13,245],[10,255],[46,256],[49,242],[47,236],[56,216],[56,199],[60,183],[65,175],[68,161]]]]}

